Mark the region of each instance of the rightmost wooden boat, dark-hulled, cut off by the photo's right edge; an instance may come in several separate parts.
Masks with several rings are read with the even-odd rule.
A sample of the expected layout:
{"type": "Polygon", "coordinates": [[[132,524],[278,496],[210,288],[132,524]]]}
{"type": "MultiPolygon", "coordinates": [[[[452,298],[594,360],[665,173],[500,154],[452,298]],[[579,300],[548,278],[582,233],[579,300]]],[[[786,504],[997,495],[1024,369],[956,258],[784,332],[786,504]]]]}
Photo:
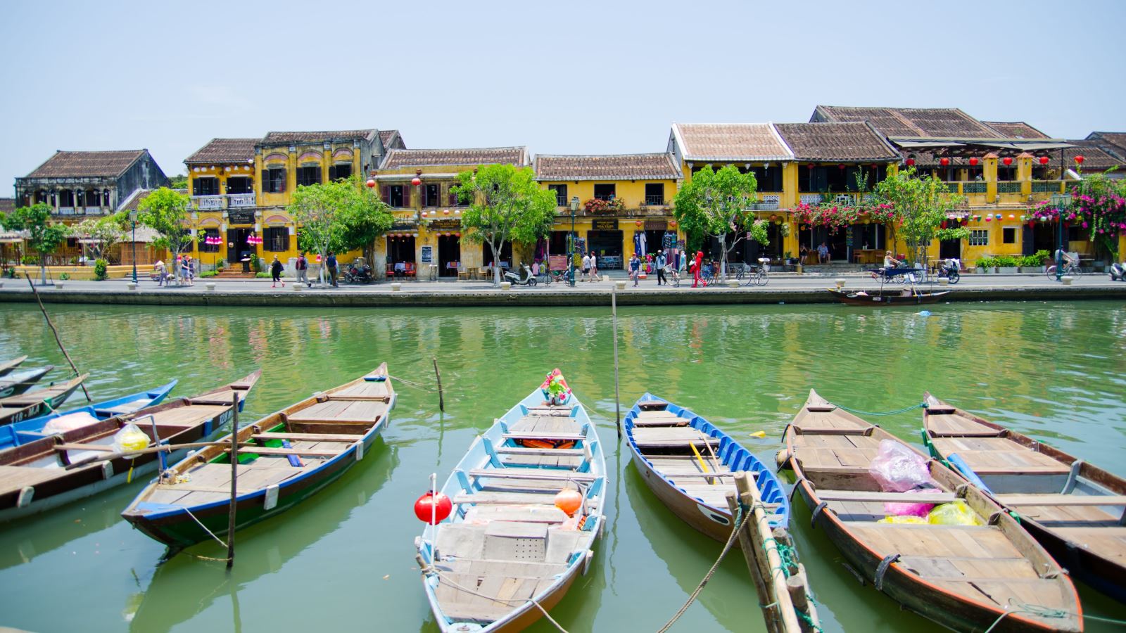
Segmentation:
{"type": "Polygon", "coordinates": [[[1126,479],[926,394],[923,437],[1096,589],[1126,601],[1126,479]]]}

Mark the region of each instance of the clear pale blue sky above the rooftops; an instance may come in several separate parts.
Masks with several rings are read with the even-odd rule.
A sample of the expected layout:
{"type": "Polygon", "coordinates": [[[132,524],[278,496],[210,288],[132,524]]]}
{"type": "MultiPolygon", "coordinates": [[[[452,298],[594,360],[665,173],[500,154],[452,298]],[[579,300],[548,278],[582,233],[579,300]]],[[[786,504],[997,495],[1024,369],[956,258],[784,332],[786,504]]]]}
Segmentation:
{"type": "Polygon", "coordinates": [[[0,196],[61,150],[397,128],[410,148],[663,151],[817,104],[1126,130],[1126,2],[10,0],[0,196]]]}

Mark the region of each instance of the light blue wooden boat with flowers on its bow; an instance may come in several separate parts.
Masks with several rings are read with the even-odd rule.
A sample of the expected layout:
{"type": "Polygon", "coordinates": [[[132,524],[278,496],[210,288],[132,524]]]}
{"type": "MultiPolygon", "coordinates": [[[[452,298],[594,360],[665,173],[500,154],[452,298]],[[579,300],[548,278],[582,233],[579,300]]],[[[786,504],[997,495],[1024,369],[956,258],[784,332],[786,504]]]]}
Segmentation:
{"type": "Polygon", "coordinates": [[[606,458],[573,394],[539,389],[474,440],[441,487],[449,518],[415,538],[422,586],[441,631],[520,631],[563,599],[605,516],[606,458]],[[573,516],[555,496],[578,489],[573,516]]]}

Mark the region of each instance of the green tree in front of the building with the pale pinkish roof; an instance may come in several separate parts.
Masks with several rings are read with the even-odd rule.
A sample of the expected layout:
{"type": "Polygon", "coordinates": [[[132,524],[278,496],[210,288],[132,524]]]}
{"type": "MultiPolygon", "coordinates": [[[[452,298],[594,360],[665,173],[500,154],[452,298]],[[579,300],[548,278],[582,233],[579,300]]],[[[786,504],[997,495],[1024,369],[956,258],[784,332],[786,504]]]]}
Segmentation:
{"type": "Polygon", "coordinates": [[[748,235],[760,244],[769,241],[767,222],[754,220],[758,181],[726,164],[720,171],[705,167],[672,198],[673,215],[686,233],[720,240],[720,274],[727,274],[727,253],[748,235]],[[729,244],[729,235],[734,234],[729,244]]]}

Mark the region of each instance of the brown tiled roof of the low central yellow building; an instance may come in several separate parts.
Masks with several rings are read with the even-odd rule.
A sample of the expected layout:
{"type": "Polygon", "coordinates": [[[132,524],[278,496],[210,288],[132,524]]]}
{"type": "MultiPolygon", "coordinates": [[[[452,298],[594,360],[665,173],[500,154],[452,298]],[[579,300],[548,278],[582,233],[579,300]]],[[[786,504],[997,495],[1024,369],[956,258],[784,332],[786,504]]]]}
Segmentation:
{"type": "Polygon", "coordinates": [[[536,180],[672,180],[680,178],[672,154],[536,157],[536,180]]]}

